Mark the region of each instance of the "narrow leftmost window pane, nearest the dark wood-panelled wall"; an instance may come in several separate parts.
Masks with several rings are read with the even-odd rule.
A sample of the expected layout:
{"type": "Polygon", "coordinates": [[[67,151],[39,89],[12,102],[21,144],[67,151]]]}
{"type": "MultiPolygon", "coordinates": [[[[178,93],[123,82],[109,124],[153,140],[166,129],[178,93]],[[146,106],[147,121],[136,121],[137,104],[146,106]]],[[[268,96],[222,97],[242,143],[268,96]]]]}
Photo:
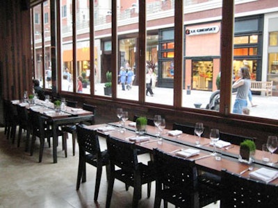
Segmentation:
{"type": "MultiPolygon", "coordinates": [[[[34,78],[40,80],[40,86],[44,87],[44,78],[47,79],[47,68],[44,69],[44,55],[42,51],[42,19],[41,19],[41,5],[33,8],[33,37],[34,37],[34,54],[33,59],[35,63],[34,78]]],[[[45,87],[51,87],[51,76],[49,82],[46,82],[45,87]]]]}

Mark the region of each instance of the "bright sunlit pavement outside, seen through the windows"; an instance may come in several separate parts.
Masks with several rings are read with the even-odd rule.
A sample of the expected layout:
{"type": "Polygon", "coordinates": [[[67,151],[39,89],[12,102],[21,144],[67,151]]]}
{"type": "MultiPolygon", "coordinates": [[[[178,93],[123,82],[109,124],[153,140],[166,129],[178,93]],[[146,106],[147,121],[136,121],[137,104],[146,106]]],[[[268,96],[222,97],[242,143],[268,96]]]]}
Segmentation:
{"type": "MultiPolygon", "coordinates": [[[[153,89],[154,96],[146,96],[147,103],[158,103],[163,105],[173,105],[173,89],[156,87],[153,89]]],[[[90,94],[90,87],[83,89],[83,93],[90,94]]],[[[104,84],[96,85],[96,95],[104,96],[104,84]]],[[[212,92],[190,90],[183,90],[182,106],[195,108],[194,103],[202,103],[201,108],[206,108],[212,92]]],[[[131,90],[122,90],[122,85],[117,85],[117,97],[138,101],[138,86],[133,86],[131,90]]],[[[234,105],[236,94],[232,95],[231,106],[234,105]]],[[[253,95],[252,103],[256,107],[251,107],[248,101],[248,108],[250,109],[250,116],[257,116],[268,119],[278,118],[278,97],[277,96],[264,96],[253,95]]],[[[232,109],[232,107],[231,107],[232,109]]]]}

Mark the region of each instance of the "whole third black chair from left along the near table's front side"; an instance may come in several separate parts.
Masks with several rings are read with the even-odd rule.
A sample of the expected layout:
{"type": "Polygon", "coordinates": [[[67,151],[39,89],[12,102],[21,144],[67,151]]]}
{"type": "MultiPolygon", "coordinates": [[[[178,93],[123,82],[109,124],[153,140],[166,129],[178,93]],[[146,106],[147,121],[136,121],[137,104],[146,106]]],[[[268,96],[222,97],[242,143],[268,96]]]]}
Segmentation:
{"type": "Polygon", "coordinates": [[[176,207],[204,207],[219,200],[214,189],[198,182],[194,161],[175,157],[154,149],[156,168],[156,197],[154,207],[161,206],[161,200],[176,207]]]}

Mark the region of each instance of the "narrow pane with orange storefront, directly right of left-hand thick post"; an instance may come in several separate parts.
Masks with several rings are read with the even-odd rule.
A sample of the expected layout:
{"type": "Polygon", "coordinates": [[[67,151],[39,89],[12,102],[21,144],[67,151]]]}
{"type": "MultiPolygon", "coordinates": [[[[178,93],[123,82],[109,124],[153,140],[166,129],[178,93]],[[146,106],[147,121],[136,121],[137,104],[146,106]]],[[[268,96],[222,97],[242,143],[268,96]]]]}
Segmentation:
{"type": "Polygon", "coordinates": [[[72,74],[73,74],[73,44],[72,44],[72,0],[60,0],[61,14],[61,66],[60,80],[61,90],[73,92],[72,74]]]}

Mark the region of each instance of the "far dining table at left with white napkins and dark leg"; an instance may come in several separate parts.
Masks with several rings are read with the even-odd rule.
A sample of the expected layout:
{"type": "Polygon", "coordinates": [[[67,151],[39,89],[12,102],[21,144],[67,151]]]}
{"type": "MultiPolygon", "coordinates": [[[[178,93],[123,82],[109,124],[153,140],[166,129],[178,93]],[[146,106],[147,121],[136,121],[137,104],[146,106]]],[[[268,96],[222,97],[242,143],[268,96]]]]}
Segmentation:
{"type": "Polygon", "coordinates": [[[66,106],[65,109],[56,111],[54,110],[53,103],[46,103],[44,101],[38,101],[35,104],[22,103],[21,101],[12,101],[14,105],[25,106],[28,110],[33,110],[35,112],[40,112],[48,123],[51,123],[51,130],[53,130],[53,162],[57,163],[57,146],[58,146],[58,136],[56,129],[60,125],[75,125],[76,123],[81,123],[84,121],[92,121],[95,116],[92,112],[88,110],[83,110],[81,108],[66,106]]]}

